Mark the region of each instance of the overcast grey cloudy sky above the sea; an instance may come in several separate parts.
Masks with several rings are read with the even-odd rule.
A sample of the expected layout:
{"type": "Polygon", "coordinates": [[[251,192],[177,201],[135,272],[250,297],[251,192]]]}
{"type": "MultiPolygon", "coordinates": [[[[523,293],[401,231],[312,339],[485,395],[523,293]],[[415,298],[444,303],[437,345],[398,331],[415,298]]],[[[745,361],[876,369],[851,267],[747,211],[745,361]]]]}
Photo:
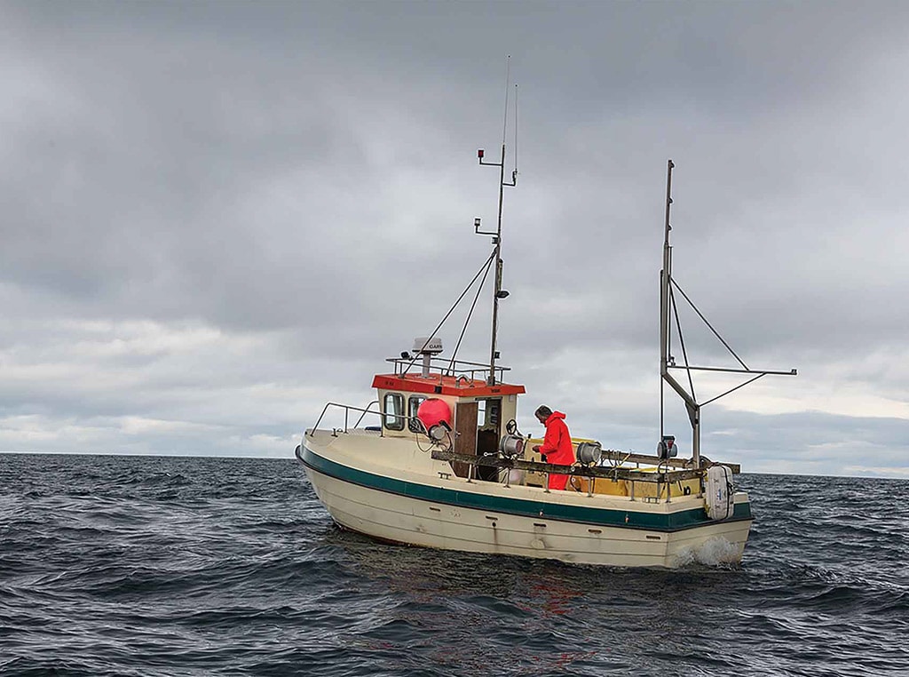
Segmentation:
{"type": "Polygon", "coordinates": [[[897,2],[0,0],[0,451],[292,457],[489,256],[504,136],[522,431],[545,403],[654,450],[671,158],[675,280],[798,369],[706,405],[702,453],[909,477],[907,33],[897,2]]]}

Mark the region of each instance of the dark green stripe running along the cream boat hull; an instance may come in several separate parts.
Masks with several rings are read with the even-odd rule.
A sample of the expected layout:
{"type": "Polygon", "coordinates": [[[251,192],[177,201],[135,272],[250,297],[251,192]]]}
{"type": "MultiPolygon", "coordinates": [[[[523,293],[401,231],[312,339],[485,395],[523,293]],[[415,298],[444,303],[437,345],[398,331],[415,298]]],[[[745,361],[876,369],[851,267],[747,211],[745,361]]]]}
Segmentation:
{"type": "MultiPolygon", "coordinates": [[[[624,529],[645,529],[651,531],[680,531],[715,524],[720,520],[707,518],[704,509],[679,510],[671,513],[640,512],[635,510],[610,510],[585,508],[584,506],[561,505],[538,500],[511,499],[504,496],[490,496],[469,491],[458,491],[431,487],[416,482],[395,480],[356,470],[333,460],[325,459],[303,445],[303,462],[313,470],[336,480],[358,484],[368,489],[385,491],[412,499],[428,500],[435,503],[492,510],[523,517],[537,517],[547,520],[571,521],[605,527],[624,529]]],[[[751,504],[736,503],[733,516],[728,520],[751,520],[751,504]]]]}

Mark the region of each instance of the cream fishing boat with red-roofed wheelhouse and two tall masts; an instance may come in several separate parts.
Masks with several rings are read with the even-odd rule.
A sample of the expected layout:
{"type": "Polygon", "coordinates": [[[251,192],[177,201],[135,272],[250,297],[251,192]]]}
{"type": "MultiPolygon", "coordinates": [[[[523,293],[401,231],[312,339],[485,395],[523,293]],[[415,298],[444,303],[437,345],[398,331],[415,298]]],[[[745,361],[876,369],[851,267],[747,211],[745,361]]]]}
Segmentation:
{"type": "Polygon", "coordinates": [[[505,179],[504,142],[499,162],[485,160],[482,150],[478,157],[480,165],[499,168],[498,226],[484,231],[480,219],[474,221],[475,233],[492,237],[493,250],[461,298],[481,274],[494,270],[489,359],[455,359],[456,349],[442,357],[440,328],[449,310],[433,332],[387,359],[391,367],[374,376],[368,405],[325,405],[295,454],[332,520],[380,541],[578,564],[677,568],[692,561],[741,561],[754,518],[747,493],[734,487],[739,466],[701,454],[701,410],[718,398],[698,401],[694,382],[688,388],[674,374],[684,370],[689,380],[697,369],[744,374],[747,380],[725,395],[765,375],[795,370],[749,369],[741,359],[741,369],[688,364],[676,292],[691,301],[672,277],[672,161],[660,273],[656,450],[637,454],[572,439],[575,461],[565,465],[548,462],[537,451],[541,440],[518,430],[525,389],[506,379],[510,369],[497,363],[498,307],[508,295],[502,288],[503,193],[516,185],[517,170],[505,179]],[[672,354],[674,338],[682,343],[681,365],[672,354]],[[684,401],[690,459],[679,458],[674,436],[664,434],[664,385],[684,401]],[[568,476],[564,490],[550,488],[554,475],[568,476]]]}

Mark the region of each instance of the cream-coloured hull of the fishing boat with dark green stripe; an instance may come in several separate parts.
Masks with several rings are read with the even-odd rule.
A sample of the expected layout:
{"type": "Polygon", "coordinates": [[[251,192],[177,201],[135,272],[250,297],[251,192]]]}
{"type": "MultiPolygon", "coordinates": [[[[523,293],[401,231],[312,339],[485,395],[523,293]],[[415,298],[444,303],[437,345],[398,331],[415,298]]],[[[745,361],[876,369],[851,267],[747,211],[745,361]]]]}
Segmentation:
{"type": "Polygon", "coordinates": [[[703,511],[704,500],[686,497],[665,503],[590,497],[467,482],[438,473],[425,473],[422,482],[411,473],[409,481],[385,480],[388,486],[381,486],[381,476],[349,463],[339,465],[305,447],[302,460],[319,500],[339,525],[383,541],[430,548],[578,564],[676,568],[692,561],[740,561],[752,523],[750,510],[744,510],[748,505],[743,493],[736,495],[736,503],[741,504],[738,519],[672,528],[666,525],[684,521],[676,516],[703,511]],[[352,470],[352,476],[344,477],[347,473],[339,469],[352,470]],[[370,483],[375,486],[367,486],[370,483]],[[533,514],[528,514],[531,510],[533,514]],[[582,519],[565,519],[574,514],[572,510],[582,519]],[[628,526],[609,524],[616,515],[628,526]],[[653,522],[652,528],[647,522],[653,522]]]}

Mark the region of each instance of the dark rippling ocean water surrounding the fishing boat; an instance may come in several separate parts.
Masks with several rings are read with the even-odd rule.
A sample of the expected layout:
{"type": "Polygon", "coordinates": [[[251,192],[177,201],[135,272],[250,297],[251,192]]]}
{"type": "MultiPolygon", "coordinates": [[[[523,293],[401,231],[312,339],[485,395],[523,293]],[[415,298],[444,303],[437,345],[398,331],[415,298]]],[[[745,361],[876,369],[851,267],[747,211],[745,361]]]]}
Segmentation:
{"type": "Polygon", "coordinates": [[[741,566],[639,571],[370,541],[295,460],[0,455],[0,674],[909,674],[909,481],[739,484],[741,566]]]}

